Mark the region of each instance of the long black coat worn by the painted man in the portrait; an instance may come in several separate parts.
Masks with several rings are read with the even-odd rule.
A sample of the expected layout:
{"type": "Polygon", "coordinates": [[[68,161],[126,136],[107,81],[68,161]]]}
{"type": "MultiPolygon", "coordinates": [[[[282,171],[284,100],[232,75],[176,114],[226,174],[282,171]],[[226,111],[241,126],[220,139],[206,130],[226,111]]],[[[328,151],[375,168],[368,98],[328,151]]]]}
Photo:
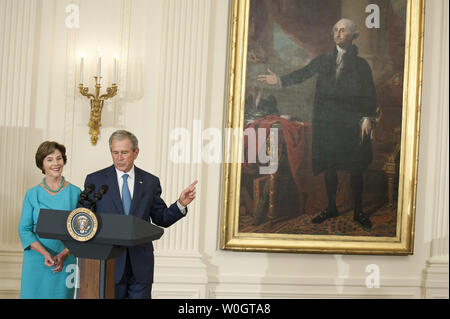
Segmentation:
{"type": "Polygon", "coordinates": [[[313,108],[312,166],[315,175],[327,168],[365,170],[372,161],[366,136],[361,143],[363,117],[374,117],[376,91],[369,64],[351,46],[336,80],[337,49],[281,77],[282,87],[300,84],[318,74],[313,108]]]}

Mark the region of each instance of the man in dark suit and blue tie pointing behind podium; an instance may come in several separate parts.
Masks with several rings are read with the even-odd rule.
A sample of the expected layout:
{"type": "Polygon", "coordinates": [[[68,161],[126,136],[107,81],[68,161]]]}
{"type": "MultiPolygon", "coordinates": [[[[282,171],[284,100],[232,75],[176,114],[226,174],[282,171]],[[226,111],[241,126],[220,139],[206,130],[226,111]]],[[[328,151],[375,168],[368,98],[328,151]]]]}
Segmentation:
{"type": "MultiPolygon", "coordinates": [[[[161,227],[169,227],[187,213],[187,205],[195,198],[192,183],[179,199],[167,207],[161,198],[158,177],[134,166],[139,154],[138,140],[134,134],[119,130],[109,139],[113,165],[89,174],[84,187],[95,185],[98,189],[108,185],[108,191],[97,202],[96,212],[132,215],[161,227]]],[[[131,247],[116,259],[115,297],[151,298],[153,283],[153,244],[131,247]]]]}

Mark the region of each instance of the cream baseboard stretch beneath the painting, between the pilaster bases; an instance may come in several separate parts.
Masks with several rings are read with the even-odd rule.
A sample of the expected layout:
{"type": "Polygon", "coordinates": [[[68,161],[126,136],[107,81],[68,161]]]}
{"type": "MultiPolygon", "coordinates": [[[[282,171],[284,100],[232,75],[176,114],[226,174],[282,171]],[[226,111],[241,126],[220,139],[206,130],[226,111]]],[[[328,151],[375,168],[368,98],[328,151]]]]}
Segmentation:
{"type": "Polygon", "coordinates": [[[227,275],[209,278],[207,298],[218,299],[411,299],[421,296],[421,278],[382,278],[378,288],[366,278],[227,275]]]}

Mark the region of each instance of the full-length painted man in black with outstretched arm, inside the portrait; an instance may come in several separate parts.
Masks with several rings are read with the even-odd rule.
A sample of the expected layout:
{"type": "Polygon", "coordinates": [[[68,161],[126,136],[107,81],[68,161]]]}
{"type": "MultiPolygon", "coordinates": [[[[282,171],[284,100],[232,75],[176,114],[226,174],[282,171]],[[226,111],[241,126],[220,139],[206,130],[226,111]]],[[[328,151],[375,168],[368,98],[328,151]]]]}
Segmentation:
{"type": "Polygon", "coordinates": [[[372,161],[370,133],[376,111],[376,91],[369,64],[353,45],[358,33],[348,20],[338,21],[332,30],[336,46],[332,52],[314,58],[307,66],[278,77],[259,75],[258,80],[287,87],[317,76],[313,108],[312,165],[315,175],[324,172],[328,207],[313,218],[322,223],[336,217],[337,171],[350,172],[354,200],[353,219],[364,228],[372,223],[362,211],[363,172],[372,161]]]}

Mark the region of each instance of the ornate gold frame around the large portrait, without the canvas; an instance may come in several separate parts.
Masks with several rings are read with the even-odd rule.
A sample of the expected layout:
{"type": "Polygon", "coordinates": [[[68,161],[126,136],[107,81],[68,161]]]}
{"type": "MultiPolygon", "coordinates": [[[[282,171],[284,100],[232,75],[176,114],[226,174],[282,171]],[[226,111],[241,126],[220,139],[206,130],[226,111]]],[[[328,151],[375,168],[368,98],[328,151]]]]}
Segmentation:
{"type": "MultiPolygon", "coordinates": [[[[234,0],[231,12],[226,128],[243,129],[249,0],[234,0]]],[[[408,0],[400,180],[396,237],[292,235],[238,231],[242,138],[225,138],[221,249],[236,251],[410,255],[413,253],[422,82],[424,0],[408,0]]],[[[227,132],[232,130],[226,130],[227,132]]]]}

